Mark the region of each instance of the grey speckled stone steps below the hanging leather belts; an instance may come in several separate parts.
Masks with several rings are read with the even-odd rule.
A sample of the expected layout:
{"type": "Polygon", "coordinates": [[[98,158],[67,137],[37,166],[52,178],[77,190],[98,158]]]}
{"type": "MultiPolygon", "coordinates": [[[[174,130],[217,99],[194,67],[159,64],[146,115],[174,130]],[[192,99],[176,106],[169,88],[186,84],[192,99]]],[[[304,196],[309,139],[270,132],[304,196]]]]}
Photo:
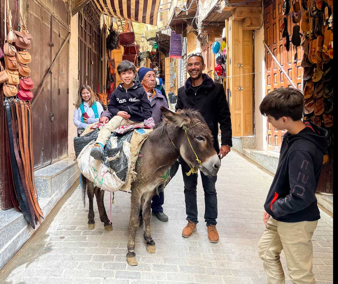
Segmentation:
{"type": "MultiPolygon", "coordinates": [[[[80,176],[76,162],[66,158],[34,172],[39,205],[46,219],[57,202],[80,176]]],[[[15,208],[0,210],[0,269],[20,250],[33,229],[15,208]]]]}

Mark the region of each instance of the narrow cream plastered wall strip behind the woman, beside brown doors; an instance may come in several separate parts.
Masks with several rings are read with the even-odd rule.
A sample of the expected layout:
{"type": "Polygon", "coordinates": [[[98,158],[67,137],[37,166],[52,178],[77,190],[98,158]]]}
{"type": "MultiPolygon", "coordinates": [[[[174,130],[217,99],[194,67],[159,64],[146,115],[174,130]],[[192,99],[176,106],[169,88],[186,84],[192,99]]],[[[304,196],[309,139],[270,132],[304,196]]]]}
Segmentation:
{"type": "Polygon", "coordinates": [[[70,21],[69,40],[69,99],[68,99],[68,157],[75,158],[73,139],[77,136],[77,128],[73,115],[78,94],[78,13],[70,21]]]}

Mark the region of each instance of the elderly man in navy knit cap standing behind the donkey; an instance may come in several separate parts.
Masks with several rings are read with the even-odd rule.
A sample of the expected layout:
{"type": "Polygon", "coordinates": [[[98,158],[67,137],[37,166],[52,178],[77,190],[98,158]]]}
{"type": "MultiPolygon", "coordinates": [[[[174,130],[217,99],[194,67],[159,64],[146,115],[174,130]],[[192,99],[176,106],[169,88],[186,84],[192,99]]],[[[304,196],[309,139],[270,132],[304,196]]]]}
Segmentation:
{"type": "MultiPolygon", "coordinates": [[[[141,67],[138,70],[139,80],[147,93],[147,97],[150,101],[151,109],[152,109],[152,117],[154,119],[155,124],[160,124],[162,120],[162,112],[160,110],[161,105],[168,108],[168,103],[166,98],[155,89],[156,85],[156,75],[154,70],[150,68],[141,67]]],[[[109,111],[104,111],[101,114],[100,122],[107,123],[112,118],[112,114],[109,111]]],[[[175,171],[177,171],[175,167],[175,171]]],[[[176,172],[170,171],[171,178],[174,176],[176,172]]],[[[156,216],[160,221],[167,222],[168,216],[163,213],[162,205],[164,204],[164,192],[163,188],[158,188],[159,195],[155,194],[152,198],[151,209],[152,215],[156,216]]],[[[140,218],[142,213],[140,212],[140,218]]],[[[140,222],[141,224],[142,222],[140,222]]]]}

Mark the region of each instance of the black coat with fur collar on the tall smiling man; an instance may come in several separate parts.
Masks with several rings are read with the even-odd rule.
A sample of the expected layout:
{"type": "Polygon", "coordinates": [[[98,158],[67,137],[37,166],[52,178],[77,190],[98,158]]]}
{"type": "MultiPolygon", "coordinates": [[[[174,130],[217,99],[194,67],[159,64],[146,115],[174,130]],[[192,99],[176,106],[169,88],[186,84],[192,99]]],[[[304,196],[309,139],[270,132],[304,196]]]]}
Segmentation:
{"type": "Polygon", "coordinates": [[[232,146],[232,129],[229,105],[222,84],[214,82],[207,74],[202,74],[203,82],[195,94],[191,78],[178,89],[176,111],[193,109],[199,111],[206,120],[214,137],[214,147],[219,152],[218,123],[221,128],[221,145],[232,146]]]}

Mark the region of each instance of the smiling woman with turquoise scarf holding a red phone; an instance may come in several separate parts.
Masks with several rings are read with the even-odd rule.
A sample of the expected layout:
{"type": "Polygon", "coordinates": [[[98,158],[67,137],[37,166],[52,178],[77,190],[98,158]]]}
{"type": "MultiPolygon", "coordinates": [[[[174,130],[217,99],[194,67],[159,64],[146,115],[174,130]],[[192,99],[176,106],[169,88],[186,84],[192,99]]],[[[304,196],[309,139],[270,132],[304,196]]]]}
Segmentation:
{"type": "Polygon", "coordinates": [[[83,132],[88,124],[99,121],[103,108],[100,102],[96,100],[96,96],[92,88],[83,85],[79,91],[73,121],[77,127],[77,137],[83,132]]]}

